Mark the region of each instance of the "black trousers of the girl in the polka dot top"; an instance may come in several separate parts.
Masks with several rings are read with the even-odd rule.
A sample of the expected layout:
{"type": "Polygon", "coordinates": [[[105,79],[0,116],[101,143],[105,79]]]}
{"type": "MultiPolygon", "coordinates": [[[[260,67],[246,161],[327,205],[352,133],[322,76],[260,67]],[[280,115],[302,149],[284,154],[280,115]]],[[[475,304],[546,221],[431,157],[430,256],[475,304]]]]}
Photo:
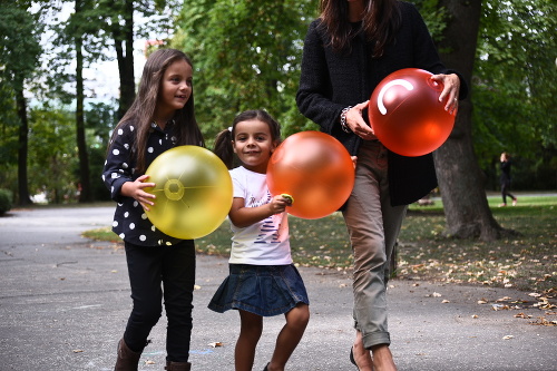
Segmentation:
{"type": "Polygon", "coordinates": [[[124,341],[133,351],[143,351],[150,330],[160,319],[164,299],[168,320],[167,360],[187,362],[194,307],[194,242],[173,246],[137,246],[126,242],[125,247],[134,307],[124,341]]]}

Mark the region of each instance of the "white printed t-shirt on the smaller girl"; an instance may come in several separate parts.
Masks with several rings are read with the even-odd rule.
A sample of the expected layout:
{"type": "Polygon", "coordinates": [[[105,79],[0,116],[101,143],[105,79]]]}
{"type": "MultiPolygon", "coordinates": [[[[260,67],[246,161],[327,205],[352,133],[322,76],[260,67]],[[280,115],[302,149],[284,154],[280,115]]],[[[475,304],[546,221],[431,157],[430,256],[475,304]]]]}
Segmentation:
{"type": "MultiPolygon", "coordinates": [[[[272,199],[266,175],[254,173],[245,167],[229,170],[234,186],[234,197],[244,198],[245,207],[268,204],[272,199]]],[[[232,237],[231,264],[287,265],[292,264],[289,241],[287,213],[270,217],[241,228],[231,221],[232,237]]]]}

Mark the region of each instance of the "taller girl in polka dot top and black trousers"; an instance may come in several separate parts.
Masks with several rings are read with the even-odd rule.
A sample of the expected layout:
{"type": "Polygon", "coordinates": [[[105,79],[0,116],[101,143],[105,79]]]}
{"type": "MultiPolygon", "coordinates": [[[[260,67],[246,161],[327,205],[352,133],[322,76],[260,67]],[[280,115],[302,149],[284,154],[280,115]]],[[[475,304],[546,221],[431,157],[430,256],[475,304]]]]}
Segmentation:
{"type": "Polygon", "coordinates": [[[116,201],[113,231],[124,240],[133,310],[118,343],[115,370],[137,370],[147,336],[163,312],[168,318],[166,370],[189,370],[195,246],[158,231],[144,209],[156,202],[145,174],[162,153],[179,145],[204,146],[194,114],[193,68],[179,50],[147,59],[139,90],[113,133],[102,179],[116,201]],[[164,291],[162,289],[164,287],[164,291]]]}

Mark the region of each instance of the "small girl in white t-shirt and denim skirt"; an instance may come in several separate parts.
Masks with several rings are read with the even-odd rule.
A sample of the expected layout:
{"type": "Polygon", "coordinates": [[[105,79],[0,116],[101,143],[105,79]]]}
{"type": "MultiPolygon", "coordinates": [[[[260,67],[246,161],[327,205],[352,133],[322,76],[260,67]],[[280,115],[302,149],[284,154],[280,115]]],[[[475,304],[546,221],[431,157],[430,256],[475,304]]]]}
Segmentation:
{"type": "Polygon", "coordinates": [[[267,163],[280,141],[280,126],[266,111],[247,110],[215,143],[215,153],[228,168],[234,154],[242,163],[231,170],[234,199],[228,216],[234,236],[229,275],[208,305],[219,313],[240,312],[236,371],[252,370],[263,316],[284,313],[286,319],[264,371],[284,370],[310,320],[307,293],[290,251],[285,208],[291,199],[271,195],[266,184],[267,163]]]}

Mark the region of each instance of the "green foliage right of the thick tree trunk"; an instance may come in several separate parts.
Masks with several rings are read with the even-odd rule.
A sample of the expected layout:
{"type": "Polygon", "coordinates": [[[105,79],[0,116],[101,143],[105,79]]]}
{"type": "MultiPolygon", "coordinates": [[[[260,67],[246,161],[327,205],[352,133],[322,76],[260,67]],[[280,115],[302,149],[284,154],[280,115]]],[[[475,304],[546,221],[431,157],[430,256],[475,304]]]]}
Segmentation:
{"type": "MultiPolygon", "coordinates": [[[[499,154],[509,152],[528,170],[554,172],[545,187],[557,186],[551,160],[557,156],[556,29],[551,0],[489,0],[483,7],[472,134],[480,165],[491,177],[499,154]]],[[[531,176],[525,174],[525,186],[531,176]]]]}

